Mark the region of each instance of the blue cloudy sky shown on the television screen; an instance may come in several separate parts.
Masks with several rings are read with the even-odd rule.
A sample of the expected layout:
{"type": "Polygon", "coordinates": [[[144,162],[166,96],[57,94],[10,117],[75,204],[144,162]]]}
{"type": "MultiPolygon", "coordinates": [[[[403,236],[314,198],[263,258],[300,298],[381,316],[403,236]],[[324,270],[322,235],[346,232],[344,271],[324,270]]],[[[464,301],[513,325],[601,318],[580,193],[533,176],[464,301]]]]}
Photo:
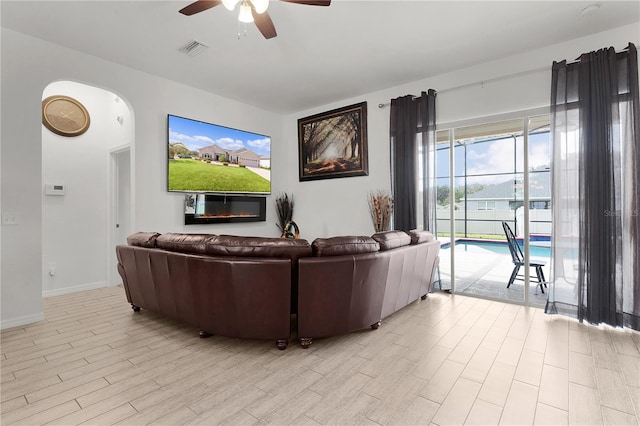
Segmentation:
{"type": "Polygon", "coordinates": [[[271,138],[265,135],[169,115],[169,142],[180,142],[191,151],[216,144],[233,151],[247,148],[258,155],[271,155],[271,138]]]}

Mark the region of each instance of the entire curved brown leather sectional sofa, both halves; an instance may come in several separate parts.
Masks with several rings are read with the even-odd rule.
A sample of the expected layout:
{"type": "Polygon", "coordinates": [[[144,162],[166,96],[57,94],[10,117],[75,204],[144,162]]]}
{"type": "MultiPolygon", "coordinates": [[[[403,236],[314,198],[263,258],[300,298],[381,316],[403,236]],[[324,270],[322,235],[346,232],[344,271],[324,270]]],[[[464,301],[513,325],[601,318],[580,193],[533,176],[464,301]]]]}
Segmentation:
{"type": "Polygon", "coordinates": [[[377,328],[426,297],[440,243],[426,231],[304,239],[139,232],[116,247],[127,300],[200,330],[275,339],[285,349],[297,314],[313,338],[377,328]]]}

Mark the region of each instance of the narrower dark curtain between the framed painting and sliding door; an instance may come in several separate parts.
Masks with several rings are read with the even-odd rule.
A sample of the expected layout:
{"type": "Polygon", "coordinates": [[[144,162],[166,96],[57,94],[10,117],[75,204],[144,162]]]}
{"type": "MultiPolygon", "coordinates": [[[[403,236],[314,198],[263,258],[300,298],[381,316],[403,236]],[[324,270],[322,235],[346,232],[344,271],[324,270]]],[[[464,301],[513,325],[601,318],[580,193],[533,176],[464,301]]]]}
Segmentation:
{"type": "Polygon", "coordinates": [[[435,104],[432,89],[420,97],[391,100],[391,191],[397,230],[416,229],[420,223],[435,233],[435,104]],[[418,210],[423,212],[419,221],[418,210]]]}

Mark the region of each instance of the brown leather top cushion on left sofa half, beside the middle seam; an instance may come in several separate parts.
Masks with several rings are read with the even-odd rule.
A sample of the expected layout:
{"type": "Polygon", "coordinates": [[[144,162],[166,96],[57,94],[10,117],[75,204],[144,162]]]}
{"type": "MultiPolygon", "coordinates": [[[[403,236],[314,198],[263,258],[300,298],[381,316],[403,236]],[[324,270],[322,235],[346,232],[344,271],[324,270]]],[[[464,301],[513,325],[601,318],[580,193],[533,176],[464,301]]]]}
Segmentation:
{"type": "Polygon", "coordinates": [[[206,253],[213,256],[276,257],[296,260],[309,256],[311,246],[305,239],[217,235],[207,242],[206,253]]]}

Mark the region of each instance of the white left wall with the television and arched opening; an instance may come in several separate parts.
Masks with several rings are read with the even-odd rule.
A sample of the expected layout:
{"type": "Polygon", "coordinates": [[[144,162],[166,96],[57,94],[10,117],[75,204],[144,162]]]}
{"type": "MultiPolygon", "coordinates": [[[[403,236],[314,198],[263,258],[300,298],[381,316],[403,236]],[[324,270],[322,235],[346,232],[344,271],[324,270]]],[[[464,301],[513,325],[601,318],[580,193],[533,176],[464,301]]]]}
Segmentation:
{"type": "Polygon", "coordinates": [[[19,222],[2,227],[2,328],[42,319],[42,279],[46,271],[42,267],[41,101],[45,88],[55,81],[104,88],[131,106],[135,116],[133,226],[137,229],[279,236],[271,199],[267,201],[266,222],[186,227],[183,197],[166,191],[166,128],[167,114],[171,113],[270,135],[273,190],[278,193],[284,188],[284,178],[277,170],[288,167],[280,115],[5,28],[1,43],[1,205],[3,214],[15,213],[19,222]]]}

